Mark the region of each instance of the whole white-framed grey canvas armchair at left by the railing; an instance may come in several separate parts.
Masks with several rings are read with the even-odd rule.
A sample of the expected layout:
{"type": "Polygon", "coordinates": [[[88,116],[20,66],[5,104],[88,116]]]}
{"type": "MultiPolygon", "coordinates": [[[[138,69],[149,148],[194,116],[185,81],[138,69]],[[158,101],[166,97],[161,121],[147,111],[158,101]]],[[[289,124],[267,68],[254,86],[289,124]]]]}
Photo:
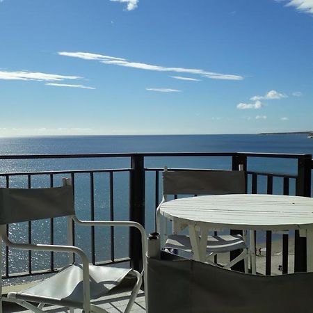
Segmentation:
{"type": "MultiPolygon", "coordinates": [[[[142,284],[143,272],[138,273],[138,271],[132,268],[116,268],[89,264],[85,252],[75,246],[15,243],[10,241],[6,235],[6,224],[59,216],[67,216],[70,222],[67,223],[68,225],[72,225],[72,220],[74,220],[75,223],[86,226],[136,227],[141,232],[143,266],[145,267],[146,236],[143,227],[134,222],[79,220],[75,216],[74,195],[72,186],[70,186],[70,180],[65,179],[64,183],[67,186],[58,188],[0,188],[0,236],[7,246],[22,250],[69,252],[69,259],[72,253],[76,253],[81,259],[81,264],[69,264],[56,273],[56,275],[42,280],[33,287],[8,293],[8,298],[3,300],[16,302],[33,312],[42,312],[42,307],[45,304],[70,307],[71,310],[80,308],[86,313],[107,312],[90,303],[90,300],[106,295],[114,287],[118,286],[124,278],[132,276],[136,282],[125,309],[125,312],[130,312],[142,284]],[[36,307],[33,303],[40,303],[40,305],[36,307]]],[[[72,230],[68,232],[68,234],[71,233],[72,230]]]]}

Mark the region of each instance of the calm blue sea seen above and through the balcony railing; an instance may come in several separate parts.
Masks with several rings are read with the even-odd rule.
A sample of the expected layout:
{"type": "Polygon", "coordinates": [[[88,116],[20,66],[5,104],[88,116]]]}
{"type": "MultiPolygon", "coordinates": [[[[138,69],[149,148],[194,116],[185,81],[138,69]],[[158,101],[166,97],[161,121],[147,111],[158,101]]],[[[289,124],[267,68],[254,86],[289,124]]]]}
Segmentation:
{"type": "MultiPolygon", "coordinates": [[[[313,154],[313,139],[305,135],[186,135],[186,136],[65,136],[33,138],[0,138],[0,155],[6,154],[95,154],[118,152],[273,152],[313,154]]],[[[149,157],[145,167],[163,166],[173,168],[216,168],[230,169],[230,157],[149,157]]],[[[296,173],[296,161],[292,159],[249,158],[248,170],[296,173]]],[[[0,172],[29,172],[42,170],[79,170],[96,168],[129,168],[129,158],[109,159],[38,159],[38,160],[0,160],[0,172]]],[[[64,175],[63,175],[64,176],[64,175]]],[[[115,220],[127,220],[129,205],[129,174],[121,172],[114,175],[115,220]]],[[[147,232],[154,227],[154,175],[147,173],[146,185],[146,227],[147,232]]],[[[259,181],[259,193],[266,192],[265,180],[259,181]]],[[[56,176],[55,184],[61,184],[61,175],[56,176]]],[[[0,186],[5,180],[0,178],[0,186]]],[[[27,177],[12,177],[11,187],[26,187],[27,177]]],[[[49,186],[49,177],[41,175],[32,179],[32,186],[49,186]]],[[[77,175],[76,209],[81,218],[90,216],[89,176],[77,175]]],[[[291,193],[294,188],[291,182],[291,193]]],[[[274,193],[282,193],[282,184],[274,179],[274,193]]],[[[99,219],[109,218],[109,177],[106,174],[95,175],[95,215],[99,219]]],[[[54,235],[56,243],[65,243],[65,232],[61,226],[65,220],[56,220],[60,228],[54,235]]],[[[26,225],[10,227],[12,236],[27,241],[26,225]]],[[[90,231],[77,228],[77,243],[83,248],[90,247],[90,231]]],[[[49,221],[33,222],[32,239],[49,243],[49,221]]],[[[264,240],[261,236],[259,241],[264,240]]],[[[109,258],[109,230],[96,230],[97,260],[109,258]]],[[[89,250],[90,252],[90,250],[89,250]]],[[[128,253],[128,231],[115,233],[115,257],[125,257],[128,253]]],[[[10,252],[10,258],[18,256],[27,259],[27,254],[10,252]]],[[[34,269],[47,266],[49,253],[33,252],[34,269]]],[[[65,256],[56,257],[56,266],[65,262],[65,256]]],[[[10,271],[26,270],[26,262],[10,264],[10,271]]]]}

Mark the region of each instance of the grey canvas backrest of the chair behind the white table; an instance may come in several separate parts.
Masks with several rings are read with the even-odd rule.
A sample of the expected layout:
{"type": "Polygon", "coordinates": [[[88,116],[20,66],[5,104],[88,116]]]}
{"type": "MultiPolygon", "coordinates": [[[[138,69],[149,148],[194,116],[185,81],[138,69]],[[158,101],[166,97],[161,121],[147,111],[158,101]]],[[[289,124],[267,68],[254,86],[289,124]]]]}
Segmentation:
{"type": "Polygon", "coordinates": [[[245,193],[245,172],[239,170],[165,170],[164,195],[245,193]]]}

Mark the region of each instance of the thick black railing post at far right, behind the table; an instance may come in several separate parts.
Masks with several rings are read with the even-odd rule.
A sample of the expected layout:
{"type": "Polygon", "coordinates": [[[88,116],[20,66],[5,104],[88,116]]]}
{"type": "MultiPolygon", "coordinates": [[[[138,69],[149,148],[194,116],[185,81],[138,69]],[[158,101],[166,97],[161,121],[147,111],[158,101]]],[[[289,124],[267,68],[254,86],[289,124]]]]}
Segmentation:
{"type": "MultiPolygon", "coordinates": [[[[311,197],[311,162],[312,154],[305,154],[298,159],[298,177],[296,178],[296,195],[311,197]]],[[[299,236],[299,231],[294,234],[294,271],[307,271],[307,240],[299,236]]]]}

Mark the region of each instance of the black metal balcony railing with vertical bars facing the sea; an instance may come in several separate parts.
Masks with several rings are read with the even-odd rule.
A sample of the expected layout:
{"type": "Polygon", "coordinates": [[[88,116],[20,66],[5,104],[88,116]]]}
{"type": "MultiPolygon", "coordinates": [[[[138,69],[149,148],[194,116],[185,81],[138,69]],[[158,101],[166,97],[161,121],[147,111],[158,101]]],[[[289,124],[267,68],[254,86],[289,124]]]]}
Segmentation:
{"type": "MultiPolygon", "coordinates": [[[[149,153],[149,154],[50,154],[50,155],[6,155],[0,156],[1,160],[39,160],[39,159],[108,159],[108,158],[122,158],[129,162],[129,167],[123,168],[97,168],[97,169],[83,169],[83,170],[45,170],[45,171],[33,171],[33,172],[6,172],[0,169],[0,186],[10,187],[10,179],[13,177],[26,177],[26,187],[33,187],[33,177],[48,177],[48,186],[54,186],[56,184],[56,179],[61,176],[71,177],[74,186],[74,192],[76,190],[77,177],[79,175],[88,175],[89,186],[83,186],[84,189],[89,190],[90,200],[89,200],[89,218],[95,219],[95,197],[97,196],[96,186],[98,185],[95,176],[96,175],[107,175],[109,176],[108,182],[108,209],[109,212],[107,218],[110,220],[115,220],[117,214],[115,211],[115,175],[119,172],[124,172],[127,175],[123,177],[123,184],[126,186],[124,188],[124,193],[122,196],[128,197],[127,206],[129,210],[127,211],[128,216],[125,219],[130,219],[145,225],[145,210],[149,210],[150,216],[154,216],[154,210],[156,209],[159,201],[161,200],[161,179],[160,171],[163,168],[159,167],[146,167],[147,159],[152,158],[163,158],[165,161],[174,158],[186,158],[186,157],[200,157],[200,158],[221,158],[226,157],[229,159],[230,164],[225,166],[227,169],[238,170],[239,164],[243,165],[243,170],[246,170],[247,179],[247,191],[248,193],[258,193],[259,192],[259,179],[266,179],[266,193],[273,193],[273,180],[280,179],[280,186],[282,188],[282,193],[285,195],[295,194],[302,196],[311,196],[311,177],[313,161],[312,155],[310,154],[262,154],[262,153],[233,153],[233,152],[223,152],[223,153],[149,153]],[[281,173],[273,172],[273,170],[267,170],[266,167],[262,171],[250,170],[249,162],[255,158],[268,158],[268,159],[294,159],[296,160],[296,173],[281,173]],[[154,186],[151,184],[147,185],[147,173],[154,172],[154,186]],[[128,177],[128,178],[127,178],[128,177]],[[291,188],[292,187],[292,188],[291,188]],[[154,200],[152,206],[148,208],[146,205],[147,189],[154,188],[154,200]]],[[[2,162],[3,163],[3,162],[2,162]]],[[[4,164],[4,163],[3,163],[4,164]]],[[[149,199],[151,200],[151,199],[149,199]]],[[[85,212],[86,213],[86,212],[85,212]]],[[[125,214],[126,215],[126,214],[125,214]]],[[[148,220],[151,223],[151,220],[148,220]]],[[[154,220],[153,220],[154,223],[154,220]]],[[[54,243],[54,236],[56,234],[56,223],[54,219],[49,220],[49,240],[50,243],[54,243]]],[[[29,223],[27,225],[27,241],[29,243],[33,242],[33,225],[29,223]]],[[[115,242],[117,234],[113,227],[109,230],[109,252],[106,255],[106,259],[97,260],[97,251],[95,249],[97,243],[97,236],[95,234],[95,228],[90,228],[90,259],[94,264],[110,264],[110,263],[120,263],[120,262],[130,262],[131,266],[135,268],[141,267],[141,236],[136,232],[136,230],[131,230],[129,232],[128,243],[129,251],[125,252],[124,257],[116,257],[115,248],[117,244],[115,242]]],[[[294,271],[305,271],[306,270],[306,251],[305,251],[305,238],[299,236],[298,232],[295,232],[295,268],[294,271]]],[[[77,240],[77,233],[73,230],[73,241],[77,240]]],[[[271,274],[271,244],[272,244],[272,233],[266,232],[266,275],[271,274]]],[[[288,234],[282,235],[282,273],[287,273],[288,268],[288,248],[289,248],[289,236],[288,234]]],[[[10,251],[8,248],[5,251],[6,262],[5,262],[5,273],[3,273],[4,278],[10,278],[13,276],[22,275],[35,275],[37,273],[49,273],[51,271],[56,271],[58,264],[56,264],[55,255],[53,252],[49,253],[49,266],[44,269],[34,270],[32,264],[32,252],[28,253],[27,268],[23,273],[12,273],[10,271],[10,251]]],[[[234,257],[234,254],[232,254],[234,257]]],[[[240,267],[240,265],[239,265],[240,267]]],[[[239,268],[240,269],[240,268],[239,268]]]]}

